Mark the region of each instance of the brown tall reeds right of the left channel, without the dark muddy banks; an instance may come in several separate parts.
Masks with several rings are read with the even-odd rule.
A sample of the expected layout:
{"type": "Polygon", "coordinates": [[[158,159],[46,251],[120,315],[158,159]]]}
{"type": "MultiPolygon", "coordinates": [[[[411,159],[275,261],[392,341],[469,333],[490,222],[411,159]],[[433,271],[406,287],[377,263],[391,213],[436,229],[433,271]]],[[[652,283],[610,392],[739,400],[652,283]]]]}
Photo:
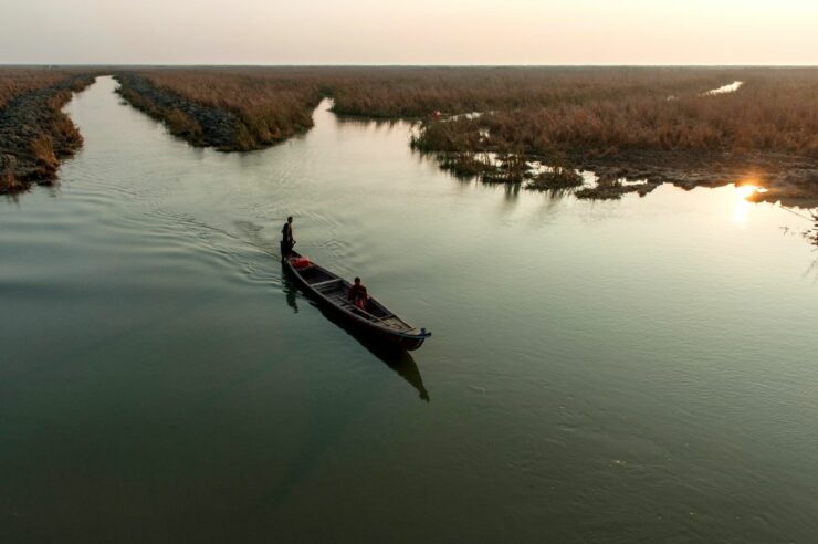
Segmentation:
{"type": "Polygon", "coordinates": [[[235,114],[248,145],[334,111],[424,119],[416,147],[611,155],[627,149],[818,156],[818,69],[235,67],[143,71],[156,85],[235,114]],[[704,95],[742,81],[735,93],[704,95]],[[481,112],[476,118],[450,116],[481,112]],[[487,133],[487,136],[486,136],[487,133]]]}

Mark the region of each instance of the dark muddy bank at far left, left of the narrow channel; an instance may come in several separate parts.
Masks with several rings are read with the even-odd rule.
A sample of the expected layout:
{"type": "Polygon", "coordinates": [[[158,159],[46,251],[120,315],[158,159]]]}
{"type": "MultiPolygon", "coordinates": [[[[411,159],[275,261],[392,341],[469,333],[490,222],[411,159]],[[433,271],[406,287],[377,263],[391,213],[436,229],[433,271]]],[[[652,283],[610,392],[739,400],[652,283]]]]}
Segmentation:
{"type": "Polygon", "coordinates": [[[25,92],[0,111],[0,193],[51,185],[60,161],[73,155],[82,135],[62,107],[72,93],[94,82],[91,74],[72,75],[48,87],[25,92]]]}

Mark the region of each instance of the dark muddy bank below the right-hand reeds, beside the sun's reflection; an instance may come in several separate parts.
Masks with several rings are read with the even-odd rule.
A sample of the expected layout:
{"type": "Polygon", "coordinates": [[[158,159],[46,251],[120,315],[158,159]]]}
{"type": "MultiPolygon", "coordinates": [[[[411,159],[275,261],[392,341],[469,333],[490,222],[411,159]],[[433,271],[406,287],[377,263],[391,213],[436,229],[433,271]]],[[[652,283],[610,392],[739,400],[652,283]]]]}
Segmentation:
{"type": "Polygon", "coordinates": [[[818,207],[818,160],[809,157],[690,150],[629,150],[610,155],[419,153],[433,157],[441,169],[461,179],[521,184],[527,189],[570,192],[581,199],[619,199],[631,192],[643,197],[662,184],[685,190],[735,184],[762,189],[753,192],[749,200],[818,207]]]}

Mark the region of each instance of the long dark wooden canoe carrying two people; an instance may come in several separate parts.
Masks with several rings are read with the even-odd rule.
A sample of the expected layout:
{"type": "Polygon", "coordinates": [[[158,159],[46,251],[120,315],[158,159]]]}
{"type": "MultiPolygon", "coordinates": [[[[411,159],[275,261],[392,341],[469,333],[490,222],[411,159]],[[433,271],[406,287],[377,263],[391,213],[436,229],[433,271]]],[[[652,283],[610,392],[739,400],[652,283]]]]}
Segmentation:
{"type": "Polygon", "coordinates": [[[312,261],[306,266],[295,266],[301,257],[291,251],[290,257],[283,261],[285,270],[316,302],[331,308],[335,315],[360,332],[409,351],[419,348],[432,335],[426,328],[405,322],[373,297],[369,297],[366,310],[357,307],[349,301],[352,284],[348,281],[312,261]]]}

